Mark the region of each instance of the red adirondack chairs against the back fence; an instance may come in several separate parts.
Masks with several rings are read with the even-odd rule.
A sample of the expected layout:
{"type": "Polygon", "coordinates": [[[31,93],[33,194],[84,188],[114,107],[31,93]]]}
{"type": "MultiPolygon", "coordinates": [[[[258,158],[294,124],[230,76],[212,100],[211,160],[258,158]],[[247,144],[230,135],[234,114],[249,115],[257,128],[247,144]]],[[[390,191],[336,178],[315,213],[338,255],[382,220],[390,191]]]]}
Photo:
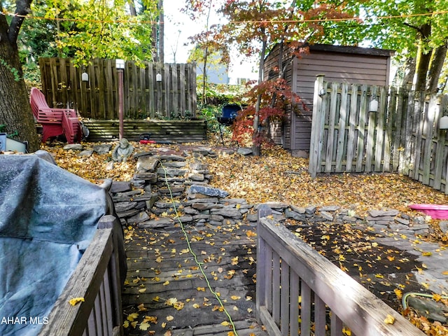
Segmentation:
{"type": "Polygon", "coordinates": [[[62,134],[69,144],[81,141],[83,134],[75,110],[50,108],[45,96],[36,87],[31,88],[29,103],[36,122],[42,125],[42,142],[62,134]]]}

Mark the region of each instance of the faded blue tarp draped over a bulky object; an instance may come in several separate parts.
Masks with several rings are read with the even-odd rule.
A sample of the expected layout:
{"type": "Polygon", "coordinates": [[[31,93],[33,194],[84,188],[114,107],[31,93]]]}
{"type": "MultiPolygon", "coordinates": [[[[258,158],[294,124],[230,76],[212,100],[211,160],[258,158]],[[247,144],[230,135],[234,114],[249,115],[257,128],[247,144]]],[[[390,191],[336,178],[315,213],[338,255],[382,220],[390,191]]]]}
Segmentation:
{"type": "Polygon", "coordinates": [[[0,335],[37,335],[99,219],[104,188],[37,155],[0,155],[0,335]]]}

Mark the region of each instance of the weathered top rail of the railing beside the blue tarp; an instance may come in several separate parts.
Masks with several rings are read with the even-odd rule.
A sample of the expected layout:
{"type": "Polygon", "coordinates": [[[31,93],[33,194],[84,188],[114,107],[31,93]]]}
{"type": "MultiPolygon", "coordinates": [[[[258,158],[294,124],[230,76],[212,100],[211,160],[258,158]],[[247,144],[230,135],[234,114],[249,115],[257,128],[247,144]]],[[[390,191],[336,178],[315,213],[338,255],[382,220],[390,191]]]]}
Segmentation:
{"type": "Polygon", "coordinates": [[[111,258],[113,253],[113,229],[99,228],[50,311],[48,324],[43,325],[38,336],[83,335],[106,269],[114,259],[111,258]],[[85,302],[72,306],[69,301],[74,297],[83,297],[85,302]]]}

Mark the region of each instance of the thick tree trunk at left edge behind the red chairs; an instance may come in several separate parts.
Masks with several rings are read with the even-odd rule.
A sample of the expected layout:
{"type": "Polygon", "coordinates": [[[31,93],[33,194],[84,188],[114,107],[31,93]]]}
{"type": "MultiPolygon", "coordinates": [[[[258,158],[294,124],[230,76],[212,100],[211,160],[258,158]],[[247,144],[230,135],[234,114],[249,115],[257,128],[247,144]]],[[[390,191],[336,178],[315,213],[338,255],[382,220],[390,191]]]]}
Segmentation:
{"type": "Polygon", "coordinates": [[[6,125],[6,133],[15,134],[15,139],[27,141],[28,151],[40,148],[40,141],[29,105],[29,95],[19,52],[15,43],[10,43],[7,31],[0,25],[0,125],[6,125]]]}

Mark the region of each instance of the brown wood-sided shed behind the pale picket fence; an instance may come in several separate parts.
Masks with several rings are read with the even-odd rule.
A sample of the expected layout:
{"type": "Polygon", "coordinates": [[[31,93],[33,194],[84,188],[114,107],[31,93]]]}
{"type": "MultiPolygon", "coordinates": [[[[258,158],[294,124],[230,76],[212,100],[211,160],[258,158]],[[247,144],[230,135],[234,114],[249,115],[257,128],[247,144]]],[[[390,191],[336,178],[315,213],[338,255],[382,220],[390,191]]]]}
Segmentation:
{"type": "MultiPolygon", "coordinates": [[[[275,78],[279,45],[265,59],[265,78],[275,78]]],[[[285,79],[304,102],[307,109],[298,106],[300,113],[289,112],[282,125],[273,123],[271,134],[277,144],[295,156],[307,156],[311,138],[314,82],[318,74],[328,82],[388,85],[393,50],[349,47],[342,45],[309,45],[302,57],[283,53],[283,64],[288,64],[285,79]]]]}

